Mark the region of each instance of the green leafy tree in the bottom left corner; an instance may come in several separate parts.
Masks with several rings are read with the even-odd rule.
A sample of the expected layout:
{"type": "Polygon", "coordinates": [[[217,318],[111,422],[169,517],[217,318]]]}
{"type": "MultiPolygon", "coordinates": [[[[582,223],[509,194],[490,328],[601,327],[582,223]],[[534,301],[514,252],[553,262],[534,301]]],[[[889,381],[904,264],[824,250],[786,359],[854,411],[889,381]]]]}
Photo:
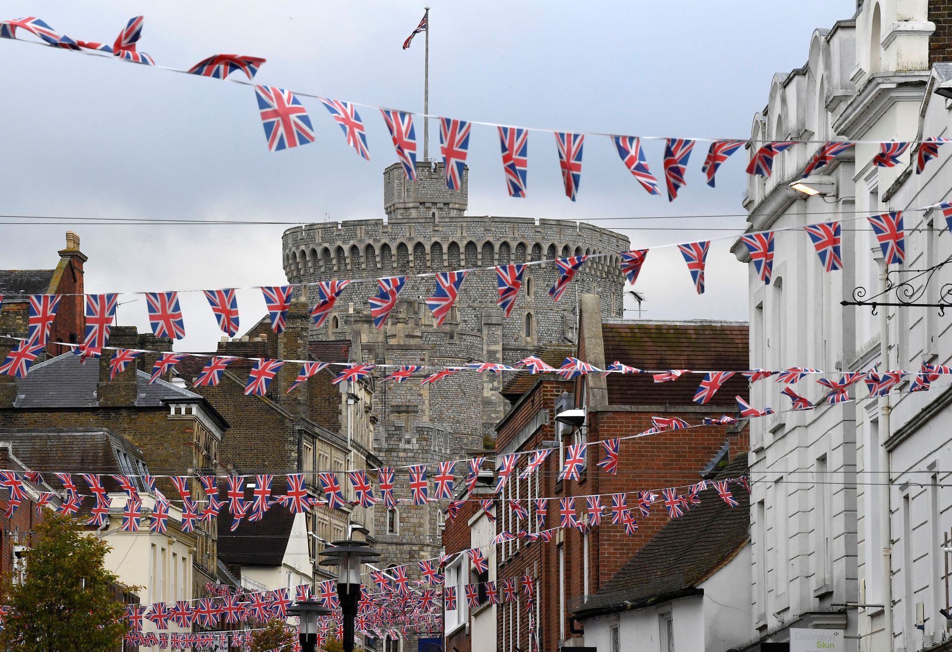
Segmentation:
{"type": "Polygon", "coordinates": [[[22,583],[5,578],[10,616],[0,633],[5,649],[21,652],[114,650],[126,633],[126,607],[116,602],[117,578],[103,567],[109,544],[68,517],[48,514],[33,526],[22,583]]]}

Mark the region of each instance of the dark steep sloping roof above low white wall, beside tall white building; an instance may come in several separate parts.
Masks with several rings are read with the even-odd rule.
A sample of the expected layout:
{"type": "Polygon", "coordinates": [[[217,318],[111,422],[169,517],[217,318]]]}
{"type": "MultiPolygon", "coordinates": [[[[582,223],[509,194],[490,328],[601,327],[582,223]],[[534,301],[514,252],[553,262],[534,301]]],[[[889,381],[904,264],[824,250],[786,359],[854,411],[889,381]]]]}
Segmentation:
{"type": "MultiPolygon", "coordinates": [[[[741,453],[718,477],[737,478],[747,472],[747,454],[741,453]]],[[[737,507],[727,506],[715,489],[705,489],[701,504],[668,521],[576,615],[640,608],[699,593],[698,584],[732,560],[749,539],[750,495],[739,484],[728,486],[737,507]]]]}

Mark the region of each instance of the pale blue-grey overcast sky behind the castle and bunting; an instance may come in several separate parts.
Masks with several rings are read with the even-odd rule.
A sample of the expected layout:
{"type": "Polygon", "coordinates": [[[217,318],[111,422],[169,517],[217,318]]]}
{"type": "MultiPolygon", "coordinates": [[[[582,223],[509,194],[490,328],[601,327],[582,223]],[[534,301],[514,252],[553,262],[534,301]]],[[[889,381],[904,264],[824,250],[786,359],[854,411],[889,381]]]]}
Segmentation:
{"type": "MultiPolygon", "coordinates": [[[[406,51],[401,44],[424,4],[8,0],[2,18],[39,16],[74,38],[111,44],[129,18],[141,14],[139,49],[160,66],[188,69],[221,52],[261,56],[268,63],[255,78],[259,83],[422,112],[423,35],[406,51]]],[[[855,10],[853,0],[430,5],[433,114],[569,131],[721,138],[746,138],[774,73],[802,66],[812,30],[855,10]]],[[[316,142],[272,153],[246,86],[6,39],[0,39],[0,61],[7,89],[0,103],[0,213],[69,218],[6,227],[0,267],[52,267],[71,228],[89,256],[89,292],[277,285],[286,281],[281,234],[289,225],[84,222],[307,224],[384,217],[382,171],[396,159],[374,109],[360,109],[369,162],[347,147],[327,110],[307,98],[316,142]]],[[[437,129],[430,135],[431,145],[439,142],[437,129]]],[[[532,132],[528,148],[528,196],[511,199],[495,129],[473,128],[469,214],[589,221],[624,232],[634,247],[708,239],[729,233],[712,229],[744,225],[740,216],[670,219],[743,213],[743,152],[721,168],[712,189],[701,172],[707,144],[698,144],[687,187],[669,204],[645,193],[606,137],[588,136],[572,203],[561,187],[551,134],[532,132]],[[660,219],[632,219],[645,216],[660,219]]],[[[663,144],[647,142],[645,149],[660,177],[663,144]]],[[[430,155],[437,153],[431,147],[430,155]]],[[[638,282],[648,298],[645,318],[745,320],[746,271],[729,253],[730,242],[712,244],[703,296],[695,294],[676,249],[649,254],[638,282]]],[[[120,307],[119,323],[148,327],[142,297],[122,301],[131,303],[120,307]]],[[[204,296],[183,295],[183,304],[189,337],[178,348],[213,346],[220,333],[204,296]]],[[[243,328],[264,314],[257,291],[240,293],[239,304],[243,328]]]]}

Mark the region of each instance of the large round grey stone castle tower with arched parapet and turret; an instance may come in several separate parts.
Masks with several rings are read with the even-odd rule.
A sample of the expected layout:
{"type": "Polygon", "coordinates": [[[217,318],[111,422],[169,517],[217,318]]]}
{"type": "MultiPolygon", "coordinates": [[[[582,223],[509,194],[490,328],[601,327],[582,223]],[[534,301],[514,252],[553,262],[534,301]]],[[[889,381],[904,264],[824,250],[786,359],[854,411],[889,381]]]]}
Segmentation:
{"type": "MultiPolygon", "coordinates": [[[[285,272],[292,283],[335,278],[375,279],[464,267],[493,267],[571,255],[625,251],[628,239],[605,228],[563,220],[465,215],[468,174],[460,190],[446,189],[443,164],[418,163],[417,180],[403,169],[384,171],[383,220],[312,224],[285,231],[285,272]]],[[[375,284],[345,288],[315,340],[358,336],[367,362],[463,366],[473,361],[513,364],[550,344],[576,341],[578,294],[602,297],[605,317],[621,317],[624,276],[617,256],[585,263],[554,303],[547,290],[554,265],[526,267],[523,288],[506,318],[496,306],[493,270],[469,272],[443,326],[433,324],[426,297],[435,282],[407,278],[400,303],[380,330],[370,319],[367,297],[375,284]]],[[[313,292],[313,290],[312,290],[313,292]]],[[[313,304],[316,296],[309,297],[313,304]]],[[[500,374],[460,372],[435,386],[417,381],[379,386],[382,424],[435,423],[457,435],[454,448],[480,447],[504,415],[500,374]],[[461,437],[462,436],[462,437],[461,437]]]]}

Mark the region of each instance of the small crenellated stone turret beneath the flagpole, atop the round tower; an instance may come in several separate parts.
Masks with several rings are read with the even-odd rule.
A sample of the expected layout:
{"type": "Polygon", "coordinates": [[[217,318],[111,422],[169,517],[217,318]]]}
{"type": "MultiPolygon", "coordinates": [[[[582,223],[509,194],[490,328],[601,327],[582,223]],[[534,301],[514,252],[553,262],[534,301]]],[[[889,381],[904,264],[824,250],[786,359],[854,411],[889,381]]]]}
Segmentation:
{"type": "Polygon", "coordinates": [[[391,222],[429,218],[459,217],[466,212],[469,168],[463,168],[459,190],[446,188],[443,163],[419,161],[416,181],[407,181],[404,168],[395,163],[384,170],[384,210],[391,222]]]}

